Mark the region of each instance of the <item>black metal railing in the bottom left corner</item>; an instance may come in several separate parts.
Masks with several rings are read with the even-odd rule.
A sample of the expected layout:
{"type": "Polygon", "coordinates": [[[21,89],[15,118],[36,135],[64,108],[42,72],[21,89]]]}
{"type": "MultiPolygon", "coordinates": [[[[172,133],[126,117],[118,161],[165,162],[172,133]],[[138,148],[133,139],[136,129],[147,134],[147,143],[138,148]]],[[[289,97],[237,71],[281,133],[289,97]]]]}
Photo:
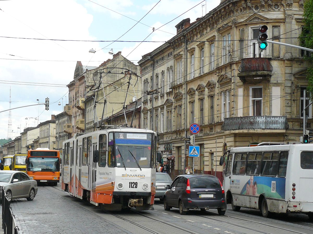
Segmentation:
{"type": "Polygon", "coordinates": [[[19,234],[10,202],[5,195],[3,186],[0,186],[0,205],[2,206],[2,229],[4,234],[19,234]]]}

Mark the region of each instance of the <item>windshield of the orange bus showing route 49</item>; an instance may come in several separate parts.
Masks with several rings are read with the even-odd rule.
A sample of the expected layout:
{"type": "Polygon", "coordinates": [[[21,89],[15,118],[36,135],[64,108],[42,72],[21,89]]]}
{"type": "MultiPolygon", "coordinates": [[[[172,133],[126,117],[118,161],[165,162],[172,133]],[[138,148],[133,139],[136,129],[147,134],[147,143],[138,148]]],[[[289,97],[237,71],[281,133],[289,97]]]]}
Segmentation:
{"type": "Polygon", "coordinates": [[[58,158],[29,157],[28,171],[60,171],[58,158]]]}

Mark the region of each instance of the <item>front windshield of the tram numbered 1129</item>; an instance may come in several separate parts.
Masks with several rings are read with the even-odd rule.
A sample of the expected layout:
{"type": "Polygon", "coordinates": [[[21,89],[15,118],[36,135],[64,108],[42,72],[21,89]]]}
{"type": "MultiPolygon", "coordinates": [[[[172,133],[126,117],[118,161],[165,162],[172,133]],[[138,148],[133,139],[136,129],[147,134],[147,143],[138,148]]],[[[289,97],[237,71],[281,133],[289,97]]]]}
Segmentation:
{"type": "Polygon", "coordinates": [[[151,133],[116,132],[114,138],[116,167],[151,167],[151,133]]]}

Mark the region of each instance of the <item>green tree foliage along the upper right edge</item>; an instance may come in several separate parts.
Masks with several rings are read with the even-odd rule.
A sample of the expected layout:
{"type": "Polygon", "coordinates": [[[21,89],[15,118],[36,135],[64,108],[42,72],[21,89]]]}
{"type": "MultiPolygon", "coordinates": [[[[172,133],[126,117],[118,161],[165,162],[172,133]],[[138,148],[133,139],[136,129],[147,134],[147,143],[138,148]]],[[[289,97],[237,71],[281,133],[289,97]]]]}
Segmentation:
{"type": "MultiPolygon", "coordinates": [[[[313,0],[307,0],[304,3],[304,13],[303,13],[303,22],[305,23],[302,28],[300,43],[301,46],[313,49],[313,0]]],[[[307,60],[310,60],[310,65],[307,69],[306,77],[308,79],[308,95],[310,99],[313,100],[313,57],[310,54],[307,54],[307,60]]]]}

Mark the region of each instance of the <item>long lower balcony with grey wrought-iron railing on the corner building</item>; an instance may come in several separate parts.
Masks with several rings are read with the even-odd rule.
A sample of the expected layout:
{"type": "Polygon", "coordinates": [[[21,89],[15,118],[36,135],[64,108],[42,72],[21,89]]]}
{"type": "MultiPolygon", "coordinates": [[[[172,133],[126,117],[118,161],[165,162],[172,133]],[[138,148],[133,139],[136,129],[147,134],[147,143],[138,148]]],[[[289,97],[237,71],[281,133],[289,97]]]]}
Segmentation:
{"type": "Polygon", "coordinates": [[[281,129],[287,130],[289,124],[286,116],[245,116],[225,118],[223,131],[242,129],[281,129]]]}

